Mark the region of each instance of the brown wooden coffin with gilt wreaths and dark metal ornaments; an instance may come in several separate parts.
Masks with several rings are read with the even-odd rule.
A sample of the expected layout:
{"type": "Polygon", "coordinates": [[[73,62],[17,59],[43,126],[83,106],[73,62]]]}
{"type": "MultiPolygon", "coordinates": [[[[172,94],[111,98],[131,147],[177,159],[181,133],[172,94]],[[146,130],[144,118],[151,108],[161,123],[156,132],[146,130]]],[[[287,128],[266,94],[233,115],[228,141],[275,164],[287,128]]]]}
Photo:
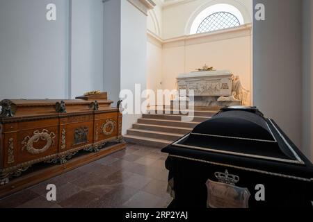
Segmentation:
{"type": "MultiPolygon", "coordinates": [[[[63,101],[1,101],[0,191],[1,187],[10,185],[10,180],[14,182],[14,178],[24,175],[37,164],[65,165],[80,151],[90,155],[95,153],[99,158],[125,148],[121,135],[122,114],[118,108],[111,107],[112,103],[106,93],[63,101]],[[112,148],[114,146],[118,148],[112,148]]],[[[90,155],[88,160],[93,160],[90,155]]],[[[54,173],[42,178],[60,173],[62,171],[54,169],[54,173]]],[[[36,180],[40,182],[38,177],[36,180]]],[[[31,181],[28,183],[32,184],[31,181]]],[[[15,185],[10,189],[16,189],[15,185]]]]}

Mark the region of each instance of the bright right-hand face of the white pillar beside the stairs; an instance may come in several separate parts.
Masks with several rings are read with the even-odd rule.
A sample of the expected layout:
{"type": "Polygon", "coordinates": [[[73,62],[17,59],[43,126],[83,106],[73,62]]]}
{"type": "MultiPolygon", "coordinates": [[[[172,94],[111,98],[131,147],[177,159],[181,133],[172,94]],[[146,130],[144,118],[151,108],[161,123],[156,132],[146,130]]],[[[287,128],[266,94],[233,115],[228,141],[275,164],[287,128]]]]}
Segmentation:
{"type": "MultiPolygon", "coordinates": [[[[121,1],[121,16],[120,88],[134,93],[136,84],[147,88],[147,16],[125,0],[121,1]]],[[[123,117],[123,134],[139,117],[141,114],[123,117]]]]}

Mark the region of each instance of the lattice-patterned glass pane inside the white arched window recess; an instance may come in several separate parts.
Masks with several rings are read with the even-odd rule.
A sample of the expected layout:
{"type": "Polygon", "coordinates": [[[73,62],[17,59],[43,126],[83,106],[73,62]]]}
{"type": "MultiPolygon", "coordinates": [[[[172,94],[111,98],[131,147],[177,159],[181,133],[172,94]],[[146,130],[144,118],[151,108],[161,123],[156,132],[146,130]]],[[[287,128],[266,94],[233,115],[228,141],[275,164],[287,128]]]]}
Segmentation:
{"type": "Polygon", "coordinates": [[[206,17],[198,27],[197,33],[207,33],[223,28],[240,26],[239,19],[230,12],[216,12],[206,17]]]}

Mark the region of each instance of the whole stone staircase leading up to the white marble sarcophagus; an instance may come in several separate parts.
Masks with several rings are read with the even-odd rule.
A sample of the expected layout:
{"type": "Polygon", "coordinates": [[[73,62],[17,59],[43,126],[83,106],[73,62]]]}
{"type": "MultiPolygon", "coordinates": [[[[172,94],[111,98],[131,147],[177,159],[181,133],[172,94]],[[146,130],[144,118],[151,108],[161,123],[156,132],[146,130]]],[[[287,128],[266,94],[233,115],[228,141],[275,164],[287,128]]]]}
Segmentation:
{"type": "Polygon", "coordinates": [[[126,142],[163,148],[190,133],[195,126],[211,118],[216,111],[195,111],[193,121],[182,121],[183,114],[175,110],[147,110],[133,128],[127,130],[126,142]],[[170,114],[168,114],[170,112],[170,114]],[[156,114],[158,113],[158,114],[156,114]]]}

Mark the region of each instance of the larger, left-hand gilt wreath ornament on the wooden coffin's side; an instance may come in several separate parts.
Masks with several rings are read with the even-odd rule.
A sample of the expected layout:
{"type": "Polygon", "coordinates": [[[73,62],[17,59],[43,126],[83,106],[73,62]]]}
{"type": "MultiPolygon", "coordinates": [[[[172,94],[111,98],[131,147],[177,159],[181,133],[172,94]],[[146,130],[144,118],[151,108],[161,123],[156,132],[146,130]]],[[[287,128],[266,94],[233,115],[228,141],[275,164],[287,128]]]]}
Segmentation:
{"type": "Polygon", "coordinates": [[[24,151],[24,148],[26,148],[26,150],[33,155],[45,153],[45,151],[49,150],[51,146],[54,146],[55,137],[56,134],[53,132],[49,133],[49,130],[42,130],[41,133],[39,130],[36,130],[35,132],[33,132],[32,137],[27,136],[24,138],[22,142],[23,145],[22,151],[24,151]],[[34,148],[33,144],[39,142],[40,140],[47,141],[47,144],[41,149],[34,148]]]}

